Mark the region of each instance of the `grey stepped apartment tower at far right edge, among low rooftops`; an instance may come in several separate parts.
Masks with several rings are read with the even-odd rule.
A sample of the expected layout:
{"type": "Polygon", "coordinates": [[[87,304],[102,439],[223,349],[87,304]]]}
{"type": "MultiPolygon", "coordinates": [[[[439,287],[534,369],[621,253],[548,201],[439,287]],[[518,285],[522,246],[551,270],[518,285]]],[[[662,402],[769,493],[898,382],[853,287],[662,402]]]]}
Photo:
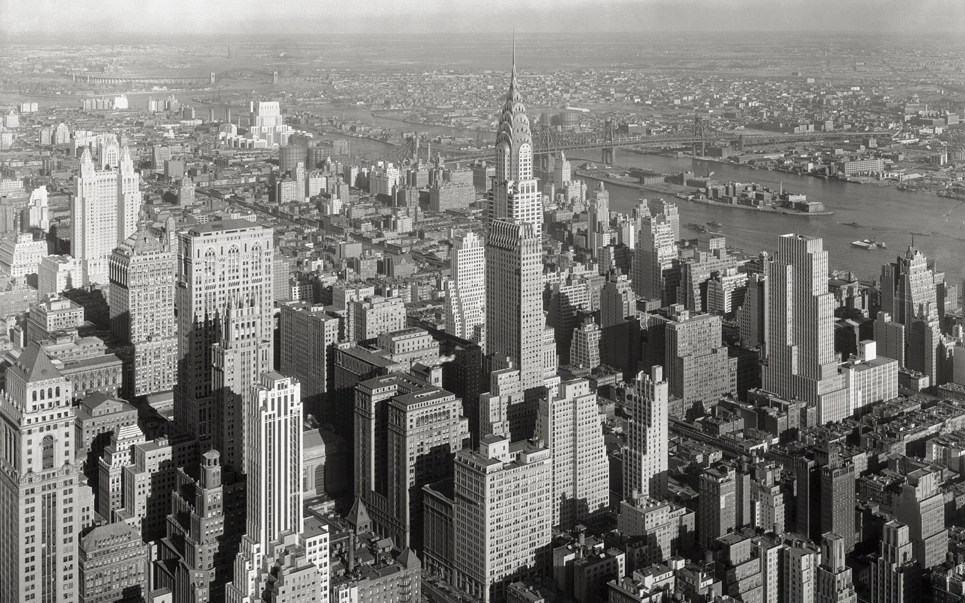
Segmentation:
{"type": "Polygon", "coordinates": [[[941,473],[933,467],[917,469],[901,484],[895,497],[895,516],[908,526],[914,559],[923,569],[945,562],[949,531],[945,527],[945,505],[939,488],[941,473]]]}

